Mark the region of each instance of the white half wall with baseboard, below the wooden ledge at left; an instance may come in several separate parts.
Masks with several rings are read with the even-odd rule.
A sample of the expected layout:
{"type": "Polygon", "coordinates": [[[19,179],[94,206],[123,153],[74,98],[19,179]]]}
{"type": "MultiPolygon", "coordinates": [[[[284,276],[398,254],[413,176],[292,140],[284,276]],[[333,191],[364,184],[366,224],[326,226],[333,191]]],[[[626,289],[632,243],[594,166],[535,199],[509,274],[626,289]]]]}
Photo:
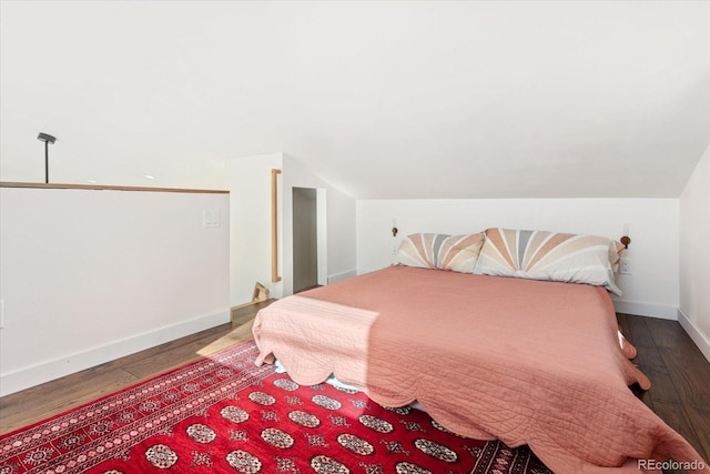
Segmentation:
{"type": "Polygon", "coordinates": [[[227,218],[224,193],[0,189],[0,394],[229,322],[227,218]]]}

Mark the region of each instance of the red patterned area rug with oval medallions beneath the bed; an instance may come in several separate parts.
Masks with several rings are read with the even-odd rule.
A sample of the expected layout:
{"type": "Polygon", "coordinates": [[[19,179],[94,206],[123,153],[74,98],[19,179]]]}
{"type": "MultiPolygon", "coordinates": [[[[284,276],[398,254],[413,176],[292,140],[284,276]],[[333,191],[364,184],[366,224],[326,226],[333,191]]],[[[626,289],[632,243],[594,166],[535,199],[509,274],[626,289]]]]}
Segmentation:
{"type": "Polygon", "coordinates": [[[418,410],[302,386],[253,343],[0,436],[0,474],[549,474],[527,447],[457,436],[418,410]]]}

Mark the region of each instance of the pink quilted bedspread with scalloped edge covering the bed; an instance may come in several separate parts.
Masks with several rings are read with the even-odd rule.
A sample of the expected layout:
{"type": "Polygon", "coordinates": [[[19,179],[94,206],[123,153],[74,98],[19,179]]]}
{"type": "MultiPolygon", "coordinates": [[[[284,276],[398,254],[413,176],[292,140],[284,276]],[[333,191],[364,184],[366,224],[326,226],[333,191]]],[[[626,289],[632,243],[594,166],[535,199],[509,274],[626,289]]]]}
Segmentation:
{"type": "Polygon", "coordinates": [[[334,373],[386,406],[416,400],[556,473],[702,462],[628,389],[650,384],[600,288],[392,266],[273,303],[254,336],[256,363],[275,356],[298,383],[334,373]]]}

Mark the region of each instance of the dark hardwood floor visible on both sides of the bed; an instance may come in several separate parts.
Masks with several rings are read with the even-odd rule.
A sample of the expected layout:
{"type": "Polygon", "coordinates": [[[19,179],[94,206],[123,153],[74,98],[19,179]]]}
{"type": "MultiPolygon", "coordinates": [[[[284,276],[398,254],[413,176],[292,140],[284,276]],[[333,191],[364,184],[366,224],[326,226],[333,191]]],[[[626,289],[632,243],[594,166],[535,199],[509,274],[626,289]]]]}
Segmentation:
{"type": "MultiPolygon", "coordinates": [[[[0,397],[0,434],[248,341],[253,317],[265,304],[235,309],[232,324],[0,397]]],[[[635,362],[651,379],[639,397],[710,460],[710,363],[676,321],[627,314],[618,320],[638,349],[635,362]]]]}

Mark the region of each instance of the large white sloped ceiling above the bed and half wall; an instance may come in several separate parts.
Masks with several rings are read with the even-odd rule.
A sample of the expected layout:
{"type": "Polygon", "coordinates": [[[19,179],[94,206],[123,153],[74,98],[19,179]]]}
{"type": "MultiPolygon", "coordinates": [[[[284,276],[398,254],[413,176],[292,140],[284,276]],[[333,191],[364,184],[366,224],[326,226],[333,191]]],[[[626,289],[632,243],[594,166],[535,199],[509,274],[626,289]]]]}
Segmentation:
{"type": "Polygon", "coordinates": [[[2,1],[0,179],[221,188],[285,152],[357,199],[678,196],[710,2],[2,1]],[[154,177],[153,179],[145,178],[154,177]]]}

